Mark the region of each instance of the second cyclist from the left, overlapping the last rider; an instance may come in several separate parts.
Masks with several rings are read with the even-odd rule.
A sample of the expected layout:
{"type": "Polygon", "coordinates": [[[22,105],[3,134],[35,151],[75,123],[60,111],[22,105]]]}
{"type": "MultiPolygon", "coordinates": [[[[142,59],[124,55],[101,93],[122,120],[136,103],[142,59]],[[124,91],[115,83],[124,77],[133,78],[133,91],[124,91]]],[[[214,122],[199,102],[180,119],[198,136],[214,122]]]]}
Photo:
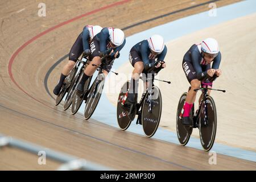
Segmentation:
{"type": "Polygon", "coordinates": [[[91,77],[96,71],[97,67],[94,67],[93,64],[101,65],[101,56],[104,56],[106,54],[109,55],[109,64],[104,70],[104,75],[108,75],[108,72],[112,68],[113,60],[119,57],[119,52],[121,51],[123,46],[125,46],[125,43],[125,34],[119,28],[105,27],[101,30],[100,34],[94,36],[92,42],[90,43],[90,57],[92,61],[90,61],[90,64],[85,68],[81,81],[77,85],[76,91],[78,93],[83,92],[85,81],[88,80],[88,78],[91,77]],[[109,49],[112,49],[110,53],[108,52],[109,49]]]}

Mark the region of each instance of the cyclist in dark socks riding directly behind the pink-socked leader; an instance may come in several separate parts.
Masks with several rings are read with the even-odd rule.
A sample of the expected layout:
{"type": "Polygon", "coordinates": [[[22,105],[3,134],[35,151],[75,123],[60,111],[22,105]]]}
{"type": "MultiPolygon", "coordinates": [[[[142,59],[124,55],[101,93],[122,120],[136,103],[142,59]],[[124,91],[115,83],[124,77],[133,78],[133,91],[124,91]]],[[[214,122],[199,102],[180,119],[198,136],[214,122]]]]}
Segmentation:
{"type": "MultiPolygon", "coordinates": [[[[158,73],[160,69],[165,68],[164,57],[166,53],[167,47],[164,45],[164,40],[160,35],[152,35],[149,39],[142,40],[131,48],[129,60],[134,70],[127,96],[128,102],[126,103],[128,105],[137,102],[139,75],[141,73],[147,74],[152,70],[158,73]],[[156,63],[155,59],[158,61],[156,65],[154,65],[156,63]]],[[[143,79],[143,82],[146,81],[143,79]]]]}

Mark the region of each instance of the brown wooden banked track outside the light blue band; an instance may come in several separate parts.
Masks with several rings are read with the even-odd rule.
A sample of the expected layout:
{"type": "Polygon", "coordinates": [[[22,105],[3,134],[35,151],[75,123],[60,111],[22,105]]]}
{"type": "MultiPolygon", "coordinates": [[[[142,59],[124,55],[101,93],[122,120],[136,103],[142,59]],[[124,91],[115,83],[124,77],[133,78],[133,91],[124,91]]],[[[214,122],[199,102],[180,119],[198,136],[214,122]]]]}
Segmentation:
{"type": "MultiPolygon", "coordinates": [[[[220,154],[217,165],[209,165],[208,152],[124,133],[93,119],[87,122],[82,115],[73,116],[69,110],[55,106],[44,87],[49,68],[69,52],[85,24],[124,28],[204,2],[207,1],[44,1],[47,15],[39,17],[40,1],[1,1],[0,133],[114,169],[255,170],[253,162],[220,154]]],[[[237,1],[216,4],[234,2],[237,1]]],[[[127,28],[125,34],[129,36],[205,10],[208,4],[138,24],[127,28]]],[[[52,72],[48,82],[51,92],[64,64],[63,61],[52,72]]],[[[37,162],[38,156],[27,152],[0,149],[0,169],[43,170],[59,166],[51,160],[41,166],[37,162]]]]}

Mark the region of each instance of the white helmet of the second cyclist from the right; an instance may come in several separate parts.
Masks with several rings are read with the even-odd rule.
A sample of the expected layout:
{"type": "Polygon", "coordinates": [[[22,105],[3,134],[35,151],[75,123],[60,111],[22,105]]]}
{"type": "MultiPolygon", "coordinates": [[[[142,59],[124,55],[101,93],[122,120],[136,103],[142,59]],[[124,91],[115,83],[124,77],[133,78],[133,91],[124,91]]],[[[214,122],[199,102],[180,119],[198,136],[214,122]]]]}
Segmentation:
{"type": "Polygon", "coordinates": [[[164,49],[164,40],[160,35],[152,35],[148,41],[148,46],[150,49],[156,53],[163,52],[164,49]]]}

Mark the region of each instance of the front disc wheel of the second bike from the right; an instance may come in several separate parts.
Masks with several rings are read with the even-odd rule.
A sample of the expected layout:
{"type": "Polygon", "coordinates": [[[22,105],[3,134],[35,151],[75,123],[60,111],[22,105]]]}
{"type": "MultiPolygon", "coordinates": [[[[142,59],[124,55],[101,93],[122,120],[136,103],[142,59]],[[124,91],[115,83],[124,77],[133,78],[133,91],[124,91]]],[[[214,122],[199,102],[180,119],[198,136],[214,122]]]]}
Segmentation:
{"type": "Polygon", "coordinates": [[[147,137],[152,137],[155,134],[159,126],[161,114],[162,96],[159,88],[154,86],[152,88],[152,98],[150,98],[150,93],[147,93],[142,106],[142,126],[147,137]]]}

